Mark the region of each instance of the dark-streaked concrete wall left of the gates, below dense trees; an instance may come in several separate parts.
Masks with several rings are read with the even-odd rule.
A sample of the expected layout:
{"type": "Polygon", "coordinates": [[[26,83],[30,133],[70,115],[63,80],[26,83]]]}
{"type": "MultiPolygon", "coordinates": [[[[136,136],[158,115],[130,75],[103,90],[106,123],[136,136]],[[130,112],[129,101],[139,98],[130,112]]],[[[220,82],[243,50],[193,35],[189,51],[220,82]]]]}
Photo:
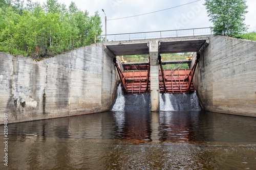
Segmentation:
{"type": "Polygon", "coordinates": [[[0,124],[107,111],[118,75],[101,43],[35,61],[0,52],[0,124]]]}

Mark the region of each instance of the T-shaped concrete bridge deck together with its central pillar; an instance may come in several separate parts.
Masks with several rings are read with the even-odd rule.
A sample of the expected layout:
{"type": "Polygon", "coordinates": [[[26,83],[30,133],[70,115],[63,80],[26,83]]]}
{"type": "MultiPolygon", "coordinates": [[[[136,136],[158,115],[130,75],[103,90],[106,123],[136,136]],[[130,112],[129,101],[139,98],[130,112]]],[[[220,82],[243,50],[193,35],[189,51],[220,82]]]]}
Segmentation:
{"type": "MultiPolygon", "coordinates": [[[[115,55],[150,55],[150,71],[148,72],[150,73],[151,111],[159,111],[160,54],[201,52],[208,45],[208,39],[208,36],[190,36],[179,38],[114,41],[106,42],[104,45],[115,55]]],[[[120,80],[122,85],[125,87],[123,76],[120,76],[120,80]]]]}

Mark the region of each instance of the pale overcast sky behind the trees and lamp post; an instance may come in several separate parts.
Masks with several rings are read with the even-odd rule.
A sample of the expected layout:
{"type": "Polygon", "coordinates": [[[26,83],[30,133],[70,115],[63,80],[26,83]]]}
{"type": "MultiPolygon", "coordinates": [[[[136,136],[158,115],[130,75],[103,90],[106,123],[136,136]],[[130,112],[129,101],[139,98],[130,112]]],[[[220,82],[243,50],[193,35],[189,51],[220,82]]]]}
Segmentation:
{"type": "MultiPolygon", "coordinates": [[[[99,11],[102,22],[102,34],[104,34],[105,31],[105,15],[102,9],[104,9],[107,17],[107,34],[164,31],[212,26],[207,16],[205,6],[202,5],[204,0],[198,2],[195,1],[197,0],[73,0],[79,9],[83,11],[87,10],[90,15],[93,15],[95,11],[99,11]],[[191,4],[184,5],[187,3],[191,4]],[[163,9],[168,10],[151,13],[163,9]],[[145,13],[151,14],[140,15],[145,13]],[[116,19],[134,15],[140,16],[116,19]]],[[[46,0],[32,0],[32,2],[39,2],[42,4],[46,2],[46,0]]],[[[71,1],[68,0],[59,0],[58,2],[66,4],[67,7],[71,3],[71,1]]],[[[248,13],[246,14],[245,23],[246,25],[250,25],[248,31],[256,31],[256,1],[247,0],[247,6],[248,13]]]]}

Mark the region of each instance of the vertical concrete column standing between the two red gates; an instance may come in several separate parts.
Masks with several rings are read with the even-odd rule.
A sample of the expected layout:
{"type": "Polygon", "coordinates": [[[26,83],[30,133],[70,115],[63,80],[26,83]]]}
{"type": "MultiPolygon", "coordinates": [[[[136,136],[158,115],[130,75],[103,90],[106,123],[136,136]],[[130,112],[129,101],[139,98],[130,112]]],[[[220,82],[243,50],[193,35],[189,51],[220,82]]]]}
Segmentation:
{"type": "Polygon", "coordinates": [[[158,40],[150,41],[151,111],[159,111],[158,40]]]}

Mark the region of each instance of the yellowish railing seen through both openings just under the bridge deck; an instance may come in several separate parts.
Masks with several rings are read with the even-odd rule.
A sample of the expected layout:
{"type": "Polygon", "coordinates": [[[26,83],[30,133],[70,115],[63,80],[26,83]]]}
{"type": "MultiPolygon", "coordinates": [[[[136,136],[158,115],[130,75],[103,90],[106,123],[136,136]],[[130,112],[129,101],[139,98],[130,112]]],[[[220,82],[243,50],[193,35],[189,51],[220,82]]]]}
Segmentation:
{"type": "MultiPolygon", "coordinates": [[[[172,61],[172,60],[188,60],[193,57],[190,56],[190,54],[184,54],[184,55],[162,55],[161,60],[162,61],[172,61]]],[[[127,57],[127,56],[117,56],[117,59],[122,63],[130,63],[130,62],[148,62],[148,56],[145,57],[127,57]]]]}

